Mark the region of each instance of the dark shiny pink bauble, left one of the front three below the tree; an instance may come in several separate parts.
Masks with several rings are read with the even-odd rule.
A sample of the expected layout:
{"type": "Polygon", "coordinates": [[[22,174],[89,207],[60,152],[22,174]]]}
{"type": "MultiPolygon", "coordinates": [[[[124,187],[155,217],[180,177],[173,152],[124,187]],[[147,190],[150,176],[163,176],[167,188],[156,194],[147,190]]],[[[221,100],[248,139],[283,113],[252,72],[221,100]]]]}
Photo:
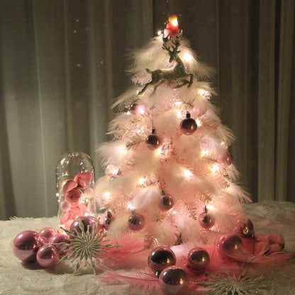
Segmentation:
{"type": "Polygon", "coordinates": [[[169,247],[159,246],[150,251],[150,255],[147,257],[147,263],[158,276],[166,267],[175,265],[176,257],[169,247]]]}

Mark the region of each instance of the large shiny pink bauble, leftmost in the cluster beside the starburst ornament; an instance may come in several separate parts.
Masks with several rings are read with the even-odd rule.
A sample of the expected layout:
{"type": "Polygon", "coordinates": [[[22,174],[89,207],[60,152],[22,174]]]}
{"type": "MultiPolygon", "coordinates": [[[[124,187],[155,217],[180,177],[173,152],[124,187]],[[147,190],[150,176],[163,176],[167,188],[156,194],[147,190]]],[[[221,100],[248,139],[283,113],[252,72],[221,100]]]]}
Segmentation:
{"type": "Polygon", "coordinates": [[[44,245],[44,240],[33,230],[25,230],[13,240],[13,253],[23,262],[34,262],[36,253],[44,245]]]}

